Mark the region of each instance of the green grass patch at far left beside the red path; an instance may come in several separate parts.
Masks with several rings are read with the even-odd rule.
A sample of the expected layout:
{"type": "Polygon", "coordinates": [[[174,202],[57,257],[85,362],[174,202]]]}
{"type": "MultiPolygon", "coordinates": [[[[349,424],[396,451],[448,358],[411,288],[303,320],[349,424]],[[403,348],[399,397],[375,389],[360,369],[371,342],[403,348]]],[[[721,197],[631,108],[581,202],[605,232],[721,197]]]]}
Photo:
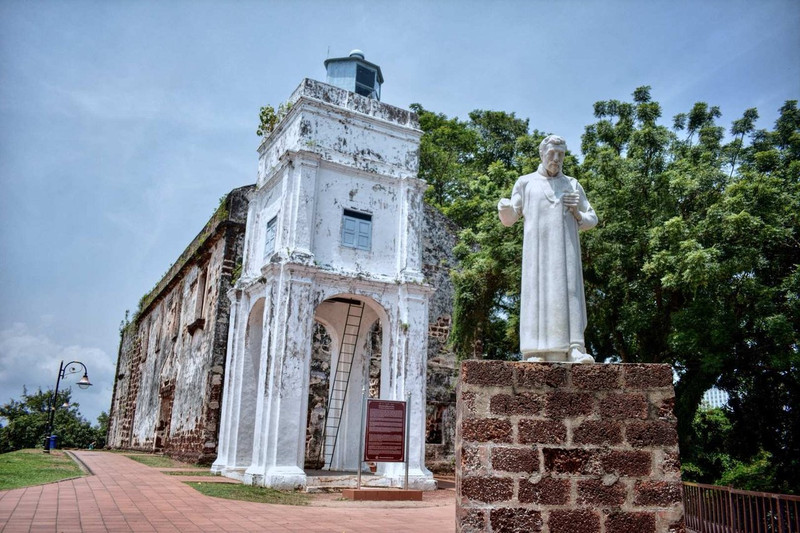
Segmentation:
{"type": "Polygon", "coordinates": [[[67,454],[17,450],[0,454],[0,490],[19,489],[84,475],[67,454]]]}

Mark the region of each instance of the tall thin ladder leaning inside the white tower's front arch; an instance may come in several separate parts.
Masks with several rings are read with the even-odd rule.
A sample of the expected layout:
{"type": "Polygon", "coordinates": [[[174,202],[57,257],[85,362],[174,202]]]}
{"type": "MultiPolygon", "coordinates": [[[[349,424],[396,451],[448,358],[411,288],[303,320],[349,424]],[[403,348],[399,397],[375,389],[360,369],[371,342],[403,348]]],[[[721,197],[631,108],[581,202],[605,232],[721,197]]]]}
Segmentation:
{"type": "Polygon", "coordinates": [[[353,368],[353,359],[356,353],[358,333],[361,329],[361,318],[364,316],[364,304],[357,300],[335,299],[347,304],[347,319],[344,324],[342,343],[339,348],[339,359],[333,371],[328,395],[328,407],[325,410],[325,426],[322,433],[323,468],[330,469],[333,452],[336,450],[336,441],[339,436],[339,425],[344,412],[344,402],[347,398],[347,385],[350,382],[350,373],[353,368]]]}

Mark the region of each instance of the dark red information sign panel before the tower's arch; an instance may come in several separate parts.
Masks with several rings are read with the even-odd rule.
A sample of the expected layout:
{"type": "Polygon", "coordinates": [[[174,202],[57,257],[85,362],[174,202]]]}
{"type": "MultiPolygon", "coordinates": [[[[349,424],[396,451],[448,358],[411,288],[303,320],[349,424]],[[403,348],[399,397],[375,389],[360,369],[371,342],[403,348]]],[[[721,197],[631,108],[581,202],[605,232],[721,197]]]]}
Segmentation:
{"type": "Polygon", "coordinates": [[[405,460],[406,402],[367,400],[364,460],[402,463],[405,460]]]}

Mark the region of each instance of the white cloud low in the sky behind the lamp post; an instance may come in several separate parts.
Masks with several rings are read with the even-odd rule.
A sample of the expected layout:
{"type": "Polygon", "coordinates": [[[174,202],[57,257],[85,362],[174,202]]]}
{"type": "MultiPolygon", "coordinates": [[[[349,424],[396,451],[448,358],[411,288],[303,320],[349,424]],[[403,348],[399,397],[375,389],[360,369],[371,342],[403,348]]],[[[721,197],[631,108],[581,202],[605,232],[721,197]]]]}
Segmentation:
{"type": "MultiPolygon", "coordinates": [[[[46,322],[46,320],[43,320],[46,322]]],[[[22,322],[0,329],[0,403],[19,399],[23,387],[29,393],[53,389],[61,362],[80,361],[86,365],[92,387],[75,385],[82,377],[67,374],[59,389],[72,388],[72,401],[80,404],[81,414],[95,423],[101,411],[108,412],[114,387],[114,358],[100,348],[77,344],[62,345],[47,333],[35,331],[22,322]]]]}

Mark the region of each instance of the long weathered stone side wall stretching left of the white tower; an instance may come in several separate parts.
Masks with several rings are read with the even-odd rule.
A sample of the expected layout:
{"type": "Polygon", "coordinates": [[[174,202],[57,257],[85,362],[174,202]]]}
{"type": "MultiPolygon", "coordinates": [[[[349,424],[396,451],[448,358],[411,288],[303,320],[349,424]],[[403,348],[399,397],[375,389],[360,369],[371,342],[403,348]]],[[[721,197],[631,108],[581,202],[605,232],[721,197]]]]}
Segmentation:
{"type": "Polygon", "coordinates": [[[122,331],[108,446],[210,463],[227,348],[227,291],[241,261],[246,192],[235,189],[122,331]],[[198,401],[199,400],[199,401],[198,401]]]}

